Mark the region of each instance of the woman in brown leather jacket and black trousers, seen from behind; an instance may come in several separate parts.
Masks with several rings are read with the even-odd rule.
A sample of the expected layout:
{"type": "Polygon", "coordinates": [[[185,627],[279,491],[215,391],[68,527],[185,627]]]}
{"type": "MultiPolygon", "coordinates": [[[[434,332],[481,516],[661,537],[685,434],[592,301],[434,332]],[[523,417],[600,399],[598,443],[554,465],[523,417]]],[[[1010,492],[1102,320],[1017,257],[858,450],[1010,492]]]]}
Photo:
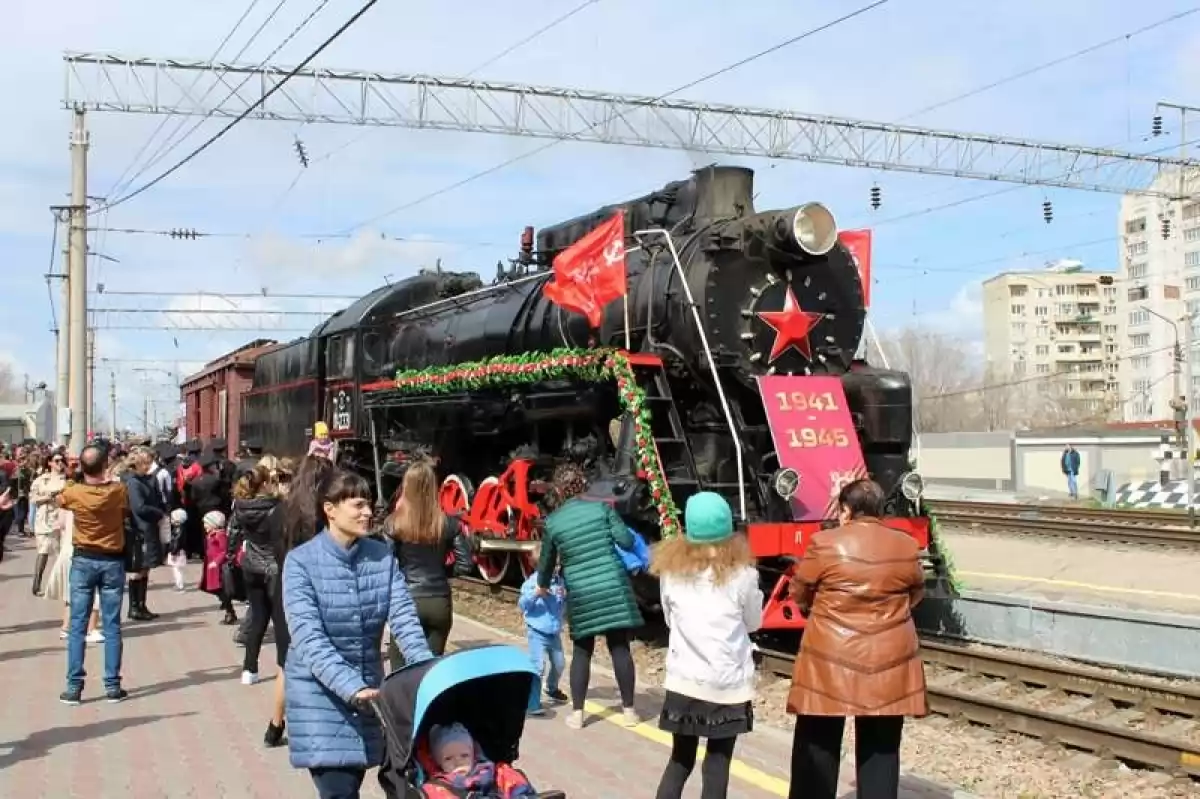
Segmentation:
{"type": "Polygon", "coordinates": [[[808,617],[787,711],[796,714],[790,799],[834,799],[847,716],[859,799],[895,799],[905,716],[923,716],[925,672],[911,609],[924,594],[919,547],[878,519],[883,491],[838,495],[841,527],[812,536],[792,578],[808,617]]]}

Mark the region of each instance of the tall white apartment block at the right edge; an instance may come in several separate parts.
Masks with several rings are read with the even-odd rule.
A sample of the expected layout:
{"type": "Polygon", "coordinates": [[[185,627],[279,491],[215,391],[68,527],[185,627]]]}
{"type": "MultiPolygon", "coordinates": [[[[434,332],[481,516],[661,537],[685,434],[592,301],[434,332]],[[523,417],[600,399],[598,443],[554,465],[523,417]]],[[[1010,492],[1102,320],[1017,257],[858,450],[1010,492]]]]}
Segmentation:
{"type": "MultiPolygon", "coordinates": [[[[1195,197],[1200,173],[1180,180],[1163,173],[1156,191],[1195,197]]],[[[1172,417],[1176,396],[1175,346],[1184,336],[1184,312],[1200,313],[1200,202],[1126,196],[1117,222],[1117,319],[1121,326],[1118,395],[1124,421],[1172,417]]],[[[1200,326],[1193,322],[1200,341],[1200,326]]],[[[1192,354],[1193,413],[1200,411],[1200,352],[1192,354]]],[[[1182,390],[1182,382],[1178,384],[1182,390]]]]}

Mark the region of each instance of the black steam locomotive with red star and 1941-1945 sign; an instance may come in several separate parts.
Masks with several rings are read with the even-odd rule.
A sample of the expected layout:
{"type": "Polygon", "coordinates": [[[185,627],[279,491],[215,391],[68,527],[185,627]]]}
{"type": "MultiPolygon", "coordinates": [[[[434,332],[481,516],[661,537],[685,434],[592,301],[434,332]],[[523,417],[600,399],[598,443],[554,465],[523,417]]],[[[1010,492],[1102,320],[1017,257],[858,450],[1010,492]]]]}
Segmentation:
{"type": "Polygon", "coordinates": [[[839,480],[875,479],[887,523],[918,540],[944,584],[910,468],[912,385],[856,358],[865,313],[828,209],[756,211],[752,170],[708,167],[544,228],[536,247],[527,228],[488,284],[426,270],[380,287],[258,358],[240,433],[299,455],[324,420],[380,501],[407,461],[433,456],[442,504],[479,536],[493,582],[534,567],[546,481],[564,459],[650,537],[691,493],[720,492],[760,558],[764,627],[796,629],[786,575],[834,523],[839,480]],[[617,211],[632,242],[628,295],[592,329],[542,287],[556,256],[617,211]],[[835,458],[857,465],[827,474],[835,458]]]}

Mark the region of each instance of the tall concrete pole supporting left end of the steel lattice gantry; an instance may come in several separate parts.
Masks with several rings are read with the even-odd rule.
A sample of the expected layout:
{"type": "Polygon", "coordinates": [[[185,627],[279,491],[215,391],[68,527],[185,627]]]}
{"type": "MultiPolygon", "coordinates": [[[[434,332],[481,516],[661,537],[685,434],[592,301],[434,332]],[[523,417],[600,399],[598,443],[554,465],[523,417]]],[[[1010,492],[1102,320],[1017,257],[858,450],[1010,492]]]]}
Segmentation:
{"type": "Polygon", "coordinates": [[[70,403],[72,452],[88,441],[88,127],[82,108],[74,110],[71,133],[71,233],[68,240],[70,403]]]}

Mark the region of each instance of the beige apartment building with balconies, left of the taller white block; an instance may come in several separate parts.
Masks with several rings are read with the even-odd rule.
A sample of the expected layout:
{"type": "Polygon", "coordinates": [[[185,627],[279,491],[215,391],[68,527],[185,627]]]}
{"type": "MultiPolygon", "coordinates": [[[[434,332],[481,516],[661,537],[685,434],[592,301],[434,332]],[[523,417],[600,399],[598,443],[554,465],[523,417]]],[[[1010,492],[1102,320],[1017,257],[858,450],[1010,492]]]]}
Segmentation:
{"type": "Polygon", "coordinates": [[[1084,271],[1080,262],[985,281],[989,379],[1015,382],[1013,392],[1027,400],[1031,413],[1046,400],[1075,419],[1109,416],[1120,364],[1114,283],[1112,275],[1084,271]]]}

